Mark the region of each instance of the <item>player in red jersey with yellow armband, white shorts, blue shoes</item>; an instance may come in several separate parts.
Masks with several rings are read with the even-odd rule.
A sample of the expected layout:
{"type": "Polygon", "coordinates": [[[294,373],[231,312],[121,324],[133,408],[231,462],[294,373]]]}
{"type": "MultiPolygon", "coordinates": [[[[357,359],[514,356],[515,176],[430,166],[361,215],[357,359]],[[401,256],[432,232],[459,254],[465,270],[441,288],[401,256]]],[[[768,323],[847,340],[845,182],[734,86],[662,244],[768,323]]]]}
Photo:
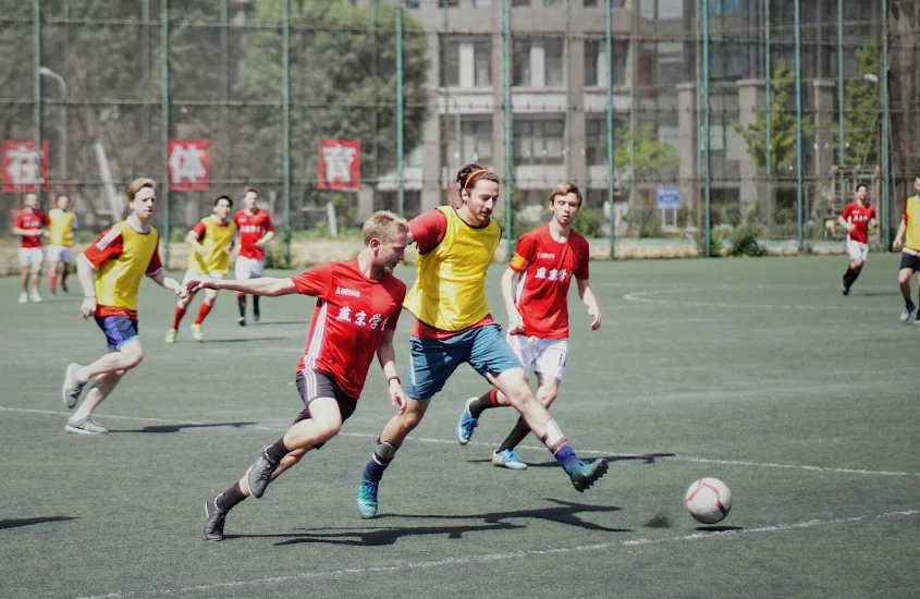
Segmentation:
{"type": "MultiPolygon", "coordinates": [[[[572,277],[578,285],[578,296],[588,307],[591,330],[601,326],[601,308],[588,284],[588,240],[572,229],[582,201],[581,192],[574,184],[556,185],[550,194],[552,220],[520,237],[517,252],[502,277],[502,295],[508,314],[508,345],[524,369],[537,374],[537,399],[548,408],[559,394],[568,356],[567,296],[572,277]]],[[[500,405],[511,405],[511,402],[504,393],[492,389],[481,398],[470,398],[464,416],[478,421],[483,409],[500,405]]],[[[468,431],[471,433],[473,428],[468,431]]],[[[514,448],[528,435],[530,427],[524,418],[518,418],[492,454],[492,464],[513,470],[527,468],[514,448]]],[[[465,440],[468,442],[469,438],[465,437],[465,440]]]]}

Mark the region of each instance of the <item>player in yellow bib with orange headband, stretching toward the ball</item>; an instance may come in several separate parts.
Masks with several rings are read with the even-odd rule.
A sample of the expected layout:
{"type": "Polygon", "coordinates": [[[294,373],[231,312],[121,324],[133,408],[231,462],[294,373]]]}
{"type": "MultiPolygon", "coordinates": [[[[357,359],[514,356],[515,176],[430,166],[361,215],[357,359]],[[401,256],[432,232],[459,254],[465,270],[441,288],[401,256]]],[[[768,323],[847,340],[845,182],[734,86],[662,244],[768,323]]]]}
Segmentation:
{"type": "Polygon", "coordinates": [[[502,231],[491,218],[499,199],[495,173],[467,164],[457,173],[458,208],[441,206],[409,223],[418,248],[418,277],[404,307],[417,319],[409,341],[408,406],[383,428],[365,466],[357,504],[363,517],[378,510],[378,490],[406,436],[421,421],[430,399],[463,363],[499,388],[553,453],[580,492],[603,476],[604,460],[581,462],[524,377],[520,360],[502,338],[486,305],[486,274],[502,231]]]}

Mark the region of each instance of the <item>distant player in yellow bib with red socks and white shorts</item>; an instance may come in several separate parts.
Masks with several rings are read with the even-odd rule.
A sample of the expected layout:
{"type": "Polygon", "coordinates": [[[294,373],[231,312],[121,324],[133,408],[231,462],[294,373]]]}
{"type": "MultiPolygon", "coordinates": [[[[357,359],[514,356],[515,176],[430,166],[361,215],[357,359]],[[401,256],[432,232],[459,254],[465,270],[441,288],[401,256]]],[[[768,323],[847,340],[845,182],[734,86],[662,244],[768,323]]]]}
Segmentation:
{"type": "MultiPolygon", "coordinates": [[[[192,281],[205,279],[220,280],[230,272],[230,250],[233,249],[233,237],[236,234],[236,224],[230,219],[230,209],[233,200],[226,196],[220,196],[214,200],[214,213],[198,221],[192,231],[185,235],[185,241],[192,246],[188,253],[188,270],[182,285],[185,286],[192,281]]],[[[195,341],[204,341],[201,322],[211,311],[217,301],[218,291],[214,289],[205,290],[205,301],[198,308],[198,317],[192,323],[192,338],[195,341]]],[[[185,310],[194,295],[180,300],[175,305],[175,315],[172,318],[172,328],[167,331],[167,343],[175,341],[179,332],[179,323],[185,316],[185,310]]]]}

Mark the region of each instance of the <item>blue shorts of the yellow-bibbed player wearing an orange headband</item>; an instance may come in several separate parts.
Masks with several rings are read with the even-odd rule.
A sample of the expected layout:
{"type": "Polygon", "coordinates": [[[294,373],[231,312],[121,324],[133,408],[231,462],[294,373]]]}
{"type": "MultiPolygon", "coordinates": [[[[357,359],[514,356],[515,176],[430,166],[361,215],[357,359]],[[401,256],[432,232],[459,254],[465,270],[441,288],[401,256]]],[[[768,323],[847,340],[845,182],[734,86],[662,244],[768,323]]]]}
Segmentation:
{"type": "Polygon", "coordinates": [[[406,394],[414,400],[434,396],[464,362],[483,377],[523,368],[496,323],[476,327],[449,339],[412,337],[409,349],[406,394]]]}

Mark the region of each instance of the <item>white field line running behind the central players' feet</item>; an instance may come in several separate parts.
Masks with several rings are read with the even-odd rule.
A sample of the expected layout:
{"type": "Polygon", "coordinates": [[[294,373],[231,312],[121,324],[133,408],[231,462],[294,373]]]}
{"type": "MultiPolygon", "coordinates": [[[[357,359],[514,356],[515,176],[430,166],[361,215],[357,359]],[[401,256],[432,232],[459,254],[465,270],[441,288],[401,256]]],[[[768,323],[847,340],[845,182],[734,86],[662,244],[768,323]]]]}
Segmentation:
{"type": "MultiPolygon", "coordinates": [[[[51,409],[33,409],[33,408],[25,408],[25,407],[8,407],[8,406],[0,406],[0,412],[16,412],[16,413],[24,413],[24,414],[44,414],[44,415],[51,415],[51,416],[69,416],[70,412],[56,412],[51,409]]],[[[217,423],[203,423],[196,420],[170,420],[167,418],[146,418],[142,416],[119,416],[113,414],[106,414],[106,418],[112,419],[121,419],[121,420],[138,420],[143,423],[161,423],[167,425],[189,425],[189,426],[208,426],[214,425],[217,423]]],[[[275,432],[283,432],[287,430],[287,427],[270,427],[270,426],[259,426],[259,425],[245,425],[238,427],[241,429],[255,429],[255,430],[270,430],[275,432]]],[[[370,435],[367,432],[340,432],[340,437],[353,437],[358,439],[377,439],[377,435],[370,435]]],[[[455,439],[432,439],[428,437],[408,437],[407,440],[418,443],[432,443],[432,444],[446,444],[453,445],[456,443],[455,439]]],[[[492,449],[494,443],[492,442],[484,442],[484,441],[470,441],[469,445],[473,447],[483,447],[492,449]]],[[[538,445],[518,445],[518,449],[522,450],[533,450],[533,451],[547,451],[543,447],[538,445]]],[[[579,453],[584,455],[606,455],[612,457],[624,457],[624,459],[635,459],[635,460],[642,460],[647,456],[647,454],[642,453],[618,453],[613,452],[610,450],[594,450],[594,449],[586,449],[580,448],[579,453]]],[[[824,472],[824,473],[835,473],[835,474],[861,474],[868,476],[907,476],[907,477],[920,477],[920,473],[911,473],[911,472],[897,472],[897,470],[868,470],[868,469],[860,469],[860,468],[837,468],[837,467],[830,467],[830,466],[809,466],[805,464],[778,464],[772,462],[747,462],[740,460],[720,460],[720,459],[712,459],[712,457],[701,457],[697,455],[655,455],[655,460],[671,460],[674,462],[694,462],[698,464],[719,464],[721,466],[745,466],[745,467],[756,467],[756,468],[776,468],[776,469],[798,469],[798,470],[807,470],[807,472],[824,472]]]]}

